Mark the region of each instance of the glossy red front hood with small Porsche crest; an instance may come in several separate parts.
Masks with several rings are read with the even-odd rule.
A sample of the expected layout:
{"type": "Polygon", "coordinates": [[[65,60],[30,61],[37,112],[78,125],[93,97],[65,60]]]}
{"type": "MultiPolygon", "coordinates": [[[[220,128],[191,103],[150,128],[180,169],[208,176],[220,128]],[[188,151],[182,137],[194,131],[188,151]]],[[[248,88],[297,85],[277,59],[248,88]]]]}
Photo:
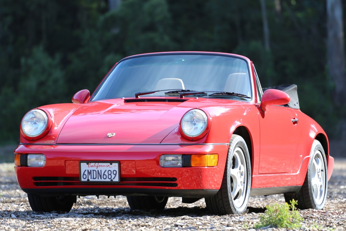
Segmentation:
{"type": "Polygon", "coordinates": [[[179,126],[181,117],[194,108],[186,103],[139,99],[89,102],[70,116],[56,143],[160,143],[179,126]]]}

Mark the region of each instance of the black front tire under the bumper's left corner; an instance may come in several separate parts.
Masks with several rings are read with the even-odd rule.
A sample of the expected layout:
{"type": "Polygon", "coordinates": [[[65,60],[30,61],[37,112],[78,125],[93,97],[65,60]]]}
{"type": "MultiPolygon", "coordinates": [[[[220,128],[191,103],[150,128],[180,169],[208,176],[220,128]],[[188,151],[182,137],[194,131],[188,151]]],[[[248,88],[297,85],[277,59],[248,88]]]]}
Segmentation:
{"type": "Polygon", "coordinates": [[[70,212],[76,196],[37,196],[28,194],[30,207],[35,212],[70,212]]]}

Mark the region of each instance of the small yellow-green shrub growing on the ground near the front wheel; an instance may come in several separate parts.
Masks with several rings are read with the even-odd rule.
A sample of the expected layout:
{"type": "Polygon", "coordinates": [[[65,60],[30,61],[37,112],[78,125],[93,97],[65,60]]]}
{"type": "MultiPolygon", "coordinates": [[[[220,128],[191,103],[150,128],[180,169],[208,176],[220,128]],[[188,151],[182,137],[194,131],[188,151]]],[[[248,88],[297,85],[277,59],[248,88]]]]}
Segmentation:
{"type": "Polygon", "coordinates": [[[276,228],[300,228],[300,222],[303,219],[299,216],[299,212],[295,208],[297,202],[292,199],[291,205],[285,204],[272,204],[266,206],[266,211],[261,215],[260,223],[255,225],[255,229],[273,226],[276,228]]]}

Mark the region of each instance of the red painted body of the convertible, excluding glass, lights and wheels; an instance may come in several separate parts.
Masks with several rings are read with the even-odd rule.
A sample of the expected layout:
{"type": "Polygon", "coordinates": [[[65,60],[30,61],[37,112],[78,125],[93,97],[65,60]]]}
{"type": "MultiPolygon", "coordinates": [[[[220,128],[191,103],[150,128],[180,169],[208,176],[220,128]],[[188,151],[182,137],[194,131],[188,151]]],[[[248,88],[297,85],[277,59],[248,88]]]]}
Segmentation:
{"type": "Polygon", "coordinates": [[[242,136],[249,150],[250,195],[298,193],[306,180],[315,140],[324,149],[329,180],[334,159],[329,155],[326,133],[300,109],[279,106],[290,100],[283,91],[268,90],[260,99],[261,87],[248,58],[203,52],[129,58],[166,54],[229,55],[244,60],[249,69],[251,99],[134,94],[92,100],[93,95],[90,99],[84,90],[74,96],[74,103],[38,107],[48,116],[47,131],[32,138],[21,128],[20,144],[15,150],[15,172],[22,190],[42,197],[212,197],[222,185],[233,134],[242,136]],[[195,108],[206,113],[209,128],[199,139],[186,139],[181,119],[195,108]],[[109,133],[114,134],[107,137],[109,133]],[[45,156],[43,167],[20,162],[20,158],[35,153],[45,156]],[[162,167],[163,154],[218,154],[218,161],[212,167],[162,167]],[[81,162],[118,162],[119,182],[82,182],[81,162]]]}

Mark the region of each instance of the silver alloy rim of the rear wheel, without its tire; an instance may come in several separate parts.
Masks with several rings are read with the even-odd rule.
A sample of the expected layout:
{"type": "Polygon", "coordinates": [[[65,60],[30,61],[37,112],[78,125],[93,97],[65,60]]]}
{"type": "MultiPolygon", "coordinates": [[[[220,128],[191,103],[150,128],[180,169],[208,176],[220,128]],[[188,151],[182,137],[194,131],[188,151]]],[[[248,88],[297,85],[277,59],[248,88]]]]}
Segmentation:
{"type": "Polygon", "coordinates": [[[320,150],[316,150],[313,160],[312,160],[312,168],[311,168],[311,184],[313,195],[315,197],[315,201],[317,204],[321,204],[325,198],[326,193],[326,169],[323,164],[323,156],[320,150]]]}

